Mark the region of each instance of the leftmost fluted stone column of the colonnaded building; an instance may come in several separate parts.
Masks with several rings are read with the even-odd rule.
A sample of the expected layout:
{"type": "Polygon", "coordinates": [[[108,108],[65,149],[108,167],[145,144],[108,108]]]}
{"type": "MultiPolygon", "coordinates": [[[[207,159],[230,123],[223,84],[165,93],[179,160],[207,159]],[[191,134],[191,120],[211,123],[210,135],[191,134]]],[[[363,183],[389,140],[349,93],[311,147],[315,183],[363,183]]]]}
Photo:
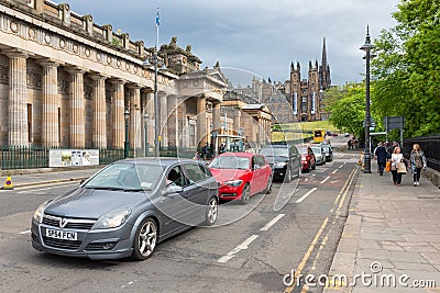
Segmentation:
{"type": "Polygon", "coordinates": [[[26,58],[21,50],[7,53],[9,57],[8,143],[11,146],[29,145],[26,108],[26,58]]]}

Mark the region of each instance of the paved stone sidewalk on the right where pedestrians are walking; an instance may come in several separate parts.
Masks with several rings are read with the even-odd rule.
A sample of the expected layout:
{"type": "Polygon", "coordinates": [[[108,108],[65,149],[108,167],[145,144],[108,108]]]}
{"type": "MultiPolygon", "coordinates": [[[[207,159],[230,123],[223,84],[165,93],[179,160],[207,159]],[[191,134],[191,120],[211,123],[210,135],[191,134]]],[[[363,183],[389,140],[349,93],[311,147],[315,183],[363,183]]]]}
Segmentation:
{"type": "Polygon", "coordinates": [[[440,292],[440,189],[425,178],[414,187],[410,172],[402,187],[391,173],[362,173],[329,279],[342,274],[346,283],[336,279],[323,292],[440,292]],[[356,274],[364,281],[352,286],[356,274]],[[416,289],[418,280],[436,288],[416,289]]]}

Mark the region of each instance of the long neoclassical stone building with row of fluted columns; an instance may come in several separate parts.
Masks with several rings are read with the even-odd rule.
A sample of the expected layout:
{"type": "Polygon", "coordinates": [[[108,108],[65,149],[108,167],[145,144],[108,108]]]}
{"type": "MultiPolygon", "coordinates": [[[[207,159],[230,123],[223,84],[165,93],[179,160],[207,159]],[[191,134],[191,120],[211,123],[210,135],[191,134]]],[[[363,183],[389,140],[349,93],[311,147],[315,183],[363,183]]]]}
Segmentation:
{"type": "Polygon", "coordinates": [[[145,65],[153,54],[67,3],[0,0],[0,145],[121,149],[127,122],[130,147],[141,151],[145,140],[153,147],[155,115],[162,147],[201,146],[226,129],[245,136],[260,124],[270,134],[268,115],[233,108],[244,117],[222,116],[228,79],[220,66],[200,69],[175,37],[158,50],[165,69],[154,109],[154,68],[145,65]]]}

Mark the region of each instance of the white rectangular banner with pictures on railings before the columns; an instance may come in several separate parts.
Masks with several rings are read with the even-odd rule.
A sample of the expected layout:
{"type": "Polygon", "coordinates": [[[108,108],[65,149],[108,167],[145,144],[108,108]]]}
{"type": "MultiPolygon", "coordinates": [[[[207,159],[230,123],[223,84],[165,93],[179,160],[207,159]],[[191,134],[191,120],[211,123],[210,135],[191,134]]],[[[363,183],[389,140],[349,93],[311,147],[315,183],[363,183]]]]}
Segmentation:
{"type": "Polygon", "coordinates": [[[99,149],[51,149],[48,167],[99,165],[99,149]]]}

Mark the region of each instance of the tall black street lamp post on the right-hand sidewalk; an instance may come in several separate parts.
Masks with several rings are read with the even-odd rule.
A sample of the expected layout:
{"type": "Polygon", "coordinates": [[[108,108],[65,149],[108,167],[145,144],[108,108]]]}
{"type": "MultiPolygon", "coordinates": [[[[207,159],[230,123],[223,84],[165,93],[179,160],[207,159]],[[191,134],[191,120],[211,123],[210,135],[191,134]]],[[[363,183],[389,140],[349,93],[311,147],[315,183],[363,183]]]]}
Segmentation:
{"type": "Polygon", "coordinates": [[[374,45],[371,44],[370,29],[366,26],[365,44],[360,49],[365,52],[366,78],[365,78],[365,150],[364,150],[364,173],[371,173],[371,150],[370,150],[370,57],[374,45]]]}

